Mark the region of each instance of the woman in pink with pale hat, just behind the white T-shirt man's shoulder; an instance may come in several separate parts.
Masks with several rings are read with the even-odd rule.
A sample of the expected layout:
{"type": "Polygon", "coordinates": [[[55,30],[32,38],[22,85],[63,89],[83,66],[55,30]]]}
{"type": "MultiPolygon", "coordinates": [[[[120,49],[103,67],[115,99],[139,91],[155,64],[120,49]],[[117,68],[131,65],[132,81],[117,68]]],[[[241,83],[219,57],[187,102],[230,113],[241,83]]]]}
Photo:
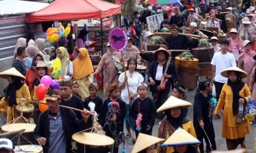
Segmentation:
{"type": "Polygon", "coordinates": [[[238,36],[236,28],[230,29],[229,34],[230,38],[228,38],[227,40],[230,42],[230,53],[234,54],[236,61],[238,61],[239,54],[243,52],[243,40],[238,36]]]}

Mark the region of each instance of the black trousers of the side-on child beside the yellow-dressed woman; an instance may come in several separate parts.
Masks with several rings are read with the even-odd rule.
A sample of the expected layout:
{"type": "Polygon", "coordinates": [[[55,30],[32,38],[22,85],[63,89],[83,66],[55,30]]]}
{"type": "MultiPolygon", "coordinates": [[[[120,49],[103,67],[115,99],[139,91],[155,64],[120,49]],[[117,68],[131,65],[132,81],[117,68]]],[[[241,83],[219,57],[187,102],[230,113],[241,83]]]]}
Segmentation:
{"type": "Polygon", "coordinates": [[[215,133],[214,133],[214,128],[213,128],[212,122],[211,122],[211,124],[205,125],[205,127],[204,127],[205,133],[207,134],[207,136],[212,144],[212,147],[210,147],[209,140],[208,140],[207,136],[205,135],[204,130],[198,124],[196,124],[194,126],[195,126],[195,131],[196,131],[196,137],[201,142],[199,145],[200,153],[204,153],[203,139],[206,142],[206,151],[207,152],[211,152],[211,150],[216,150],[215,133]]]}

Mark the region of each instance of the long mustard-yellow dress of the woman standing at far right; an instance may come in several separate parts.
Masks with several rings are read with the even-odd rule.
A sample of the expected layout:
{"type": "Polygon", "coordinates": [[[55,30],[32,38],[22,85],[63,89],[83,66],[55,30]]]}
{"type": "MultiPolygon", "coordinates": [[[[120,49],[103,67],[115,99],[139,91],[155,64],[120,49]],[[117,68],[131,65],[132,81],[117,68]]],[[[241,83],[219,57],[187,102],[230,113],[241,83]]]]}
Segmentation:
{"type": "MultiPolygon", "coordinates": [[[[244,84],[244,87],[239,91],[239,96],[246,99],[248,103],[249,98],[252,98],[252,94],[248,85],[244,84]]],[[[220,99],[216,106],[215,113],[220,113],[223,108],[223,120],[222,120],[222,134],[223,138],[237,139],[244,138],[247,133],[250,133],[249,122],[244,120],[243,123],[236,123],[236,115],[233,114],[233,92],[231,87],[226,83],[223,85],[220,99]]]]}

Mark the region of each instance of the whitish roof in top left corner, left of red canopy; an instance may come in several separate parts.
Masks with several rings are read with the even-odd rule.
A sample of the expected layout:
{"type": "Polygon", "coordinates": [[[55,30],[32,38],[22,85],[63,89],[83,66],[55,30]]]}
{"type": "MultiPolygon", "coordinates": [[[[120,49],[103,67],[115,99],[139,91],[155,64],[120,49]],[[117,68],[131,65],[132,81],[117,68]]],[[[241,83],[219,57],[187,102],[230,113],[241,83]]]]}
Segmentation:
{"type": "Polygon", "coordinates": [[[42,8],[45,8],[48,5],[48,3],[31,1],[3,0],[0,1],[0,15],[32,13],[34,11],[42,10],[42,8]]]}

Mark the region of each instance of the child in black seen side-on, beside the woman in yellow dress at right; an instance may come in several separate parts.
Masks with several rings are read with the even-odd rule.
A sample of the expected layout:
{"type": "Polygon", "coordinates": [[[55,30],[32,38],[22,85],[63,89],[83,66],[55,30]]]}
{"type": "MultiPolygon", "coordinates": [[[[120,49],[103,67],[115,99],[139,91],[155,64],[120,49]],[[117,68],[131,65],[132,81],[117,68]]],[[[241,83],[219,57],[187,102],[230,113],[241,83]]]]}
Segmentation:
{"type": "Polygon", "coordinates": [[[202,143],[200,143],[200,152],[204,153],[204,143],[203,139],[205,139],[206,151],[211,152],[212,150],[216,150],[216,142],[215,142],[215,134],[212,123],[212,117],[214,113],[214,109],[216,103],[212,100],[212,95],[209,92],[212,92],[212,84],[208,79],[201,80],[198,84],[198,90],[195,94],[195,102],[194,102],[194,127],[196,131],[196,138],[202,143]],[[205,136],[207,133],[208,138],[205,136]]]}

